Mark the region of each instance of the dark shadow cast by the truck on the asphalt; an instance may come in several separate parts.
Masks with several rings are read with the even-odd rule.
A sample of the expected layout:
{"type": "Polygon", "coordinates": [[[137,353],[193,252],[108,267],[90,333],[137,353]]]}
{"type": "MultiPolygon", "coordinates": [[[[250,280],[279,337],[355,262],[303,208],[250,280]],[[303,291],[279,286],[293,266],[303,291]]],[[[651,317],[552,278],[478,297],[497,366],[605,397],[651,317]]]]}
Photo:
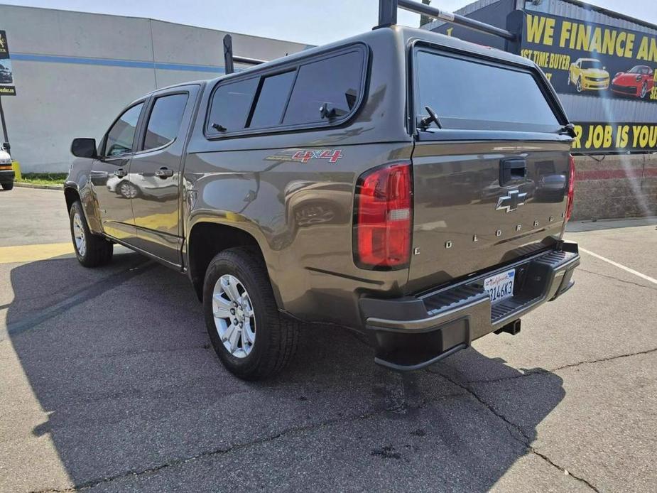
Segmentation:
{"type": "Polygon", "coordinates": [[[187,278],[137,254],[96,270],[16,266],[11,288],[9,338],[48,413],[11,439],[30,450],[49,435],[72,482],[16,477],[17,490],[484,491],[534,455],[564,396],[559,376],[474,349],[389,372],[339,327],[308,327],[276,379],[240,381],[215,357],[187,278]]]}

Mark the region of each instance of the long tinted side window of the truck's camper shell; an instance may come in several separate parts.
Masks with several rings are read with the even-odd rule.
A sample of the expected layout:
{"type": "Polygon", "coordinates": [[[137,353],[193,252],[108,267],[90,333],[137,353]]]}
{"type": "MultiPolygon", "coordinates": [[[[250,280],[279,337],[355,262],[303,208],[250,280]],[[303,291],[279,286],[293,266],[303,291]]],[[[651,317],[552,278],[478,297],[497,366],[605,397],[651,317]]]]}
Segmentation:
{"type": "Polygon", "coordinates": [[[210,96],[205,135],[212,139],[342,124],[362,102],[366,53],[357,44],[220,80],[210,96]]]}

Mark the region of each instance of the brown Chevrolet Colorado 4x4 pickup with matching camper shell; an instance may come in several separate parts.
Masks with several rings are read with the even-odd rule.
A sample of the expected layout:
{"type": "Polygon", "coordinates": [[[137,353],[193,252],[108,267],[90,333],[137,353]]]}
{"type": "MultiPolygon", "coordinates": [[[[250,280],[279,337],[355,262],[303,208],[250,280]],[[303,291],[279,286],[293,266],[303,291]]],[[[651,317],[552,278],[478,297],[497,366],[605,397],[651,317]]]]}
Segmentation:
{"type": "Polygon", "coordinates": [[[186,273],[241,378],[281,369],[303,323],[418,369],[572,286],[566,128],[531,61],[379,28],[153,91],[75,139],[72,240],[83,266],[122,244],[186,273]]]}

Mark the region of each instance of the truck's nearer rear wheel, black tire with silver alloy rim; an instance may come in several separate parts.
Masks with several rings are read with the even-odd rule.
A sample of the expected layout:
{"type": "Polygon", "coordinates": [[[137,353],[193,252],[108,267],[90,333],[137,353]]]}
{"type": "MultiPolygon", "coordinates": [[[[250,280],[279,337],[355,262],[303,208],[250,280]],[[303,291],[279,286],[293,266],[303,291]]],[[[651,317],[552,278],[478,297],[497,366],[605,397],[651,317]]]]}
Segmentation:
{"type": "Polygon", "coordinates": [[[217,356],[241,379],[273,376],[295,353],[298,323],[278,311],[264,261],[251,249],[227,249],[210,261],[203,312],[217,356]]]}

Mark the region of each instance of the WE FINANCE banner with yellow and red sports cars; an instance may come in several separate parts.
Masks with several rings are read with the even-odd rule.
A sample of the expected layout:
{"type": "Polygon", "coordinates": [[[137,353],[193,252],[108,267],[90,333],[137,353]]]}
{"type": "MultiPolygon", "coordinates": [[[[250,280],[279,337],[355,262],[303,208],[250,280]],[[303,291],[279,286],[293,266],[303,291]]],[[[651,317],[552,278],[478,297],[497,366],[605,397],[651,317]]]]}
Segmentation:
{"type": "Polygon", "coordinates": [[[528,13],[521,55],[556,92],[657,103],[657,37],[577,19],[528,13]]]}

